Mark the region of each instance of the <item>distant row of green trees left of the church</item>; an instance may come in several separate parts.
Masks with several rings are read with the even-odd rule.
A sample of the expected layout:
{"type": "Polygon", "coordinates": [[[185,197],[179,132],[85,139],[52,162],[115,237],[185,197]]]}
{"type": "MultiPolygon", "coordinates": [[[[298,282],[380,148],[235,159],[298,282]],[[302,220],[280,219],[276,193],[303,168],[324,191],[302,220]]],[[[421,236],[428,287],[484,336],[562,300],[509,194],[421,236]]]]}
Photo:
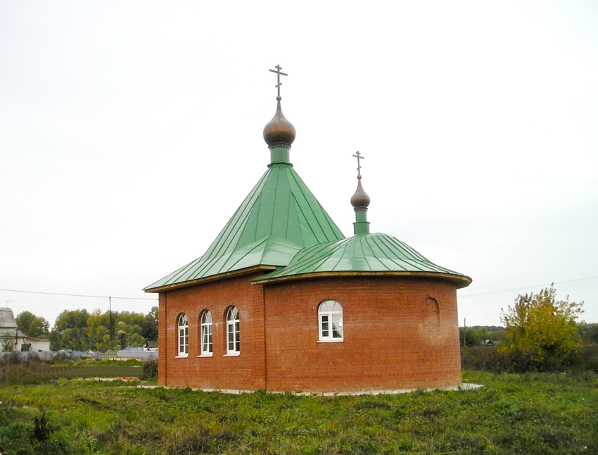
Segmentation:
{"type": "Polygon", "coordinates": [[[158,339],[158,306],[149,313],[99,310],[65,310],[58,315],[49,330],[44,318],[23,311],[17,318],[17,328],[25,335],[50,340],[50,349],[77,351],[108,351],[130,346],[144,346],[147,339],[158,339]]]}

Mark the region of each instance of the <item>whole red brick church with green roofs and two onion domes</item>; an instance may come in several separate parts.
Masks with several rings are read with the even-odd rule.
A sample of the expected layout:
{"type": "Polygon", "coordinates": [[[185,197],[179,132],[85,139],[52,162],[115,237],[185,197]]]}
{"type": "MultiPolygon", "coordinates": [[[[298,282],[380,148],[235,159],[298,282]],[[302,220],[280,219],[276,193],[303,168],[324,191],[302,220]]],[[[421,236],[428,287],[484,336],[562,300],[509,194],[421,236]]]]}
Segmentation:
{"type": "Polygon", "coordinates": [[[345,237],[290,159],[281,110],[270,163],[195,261],[159,294],[160,385],[373,392],[461,384],[457,289],[471,278],[395,237],[371,234],[357,152],[354,235],[345,237]]]}

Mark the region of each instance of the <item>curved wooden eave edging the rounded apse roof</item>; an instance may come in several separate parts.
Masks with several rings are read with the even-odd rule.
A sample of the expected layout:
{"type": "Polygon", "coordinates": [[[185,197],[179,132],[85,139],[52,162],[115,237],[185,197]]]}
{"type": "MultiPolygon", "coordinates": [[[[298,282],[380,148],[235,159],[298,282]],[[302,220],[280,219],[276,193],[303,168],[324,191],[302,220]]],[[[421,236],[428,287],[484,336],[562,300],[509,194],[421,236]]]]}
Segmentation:
{"type": "Polygon", "coordinates": [[[440,272],[421,272],[411,270],[386,270],[386,271],[346,271],[346,272],[313,272],[313,273],[300,273],[298,275],[287,275],[276,278],[265,278],[252,281],[253,285],[269,285],[283,281],[291,280],[305,280],[307,278],[322,278],[322,277],[371,277],[371,276],[392,276],[392,277],[412,277],[412,278],[440,278],[442,280],[448,280],[454,282],[457,285],[457,289],[467,287],[471,285],[471,278],[466,275],[453,275],[452,273],[440,273],[440,272]]]}

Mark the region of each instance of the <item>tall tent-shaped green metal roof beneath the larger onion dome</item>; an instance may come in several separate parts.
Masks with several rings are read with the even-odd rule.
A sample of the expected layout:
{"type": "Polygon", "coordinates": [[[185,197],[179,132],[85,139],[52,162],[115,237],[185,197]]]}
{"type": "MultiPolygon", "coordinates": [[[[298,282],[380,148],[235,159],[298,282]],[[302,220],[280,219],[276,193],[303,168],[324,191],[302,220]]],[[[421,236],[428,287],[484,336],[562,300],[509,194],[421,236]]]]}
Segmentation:
{"type": "Polygon", "coordinates": [[[288,163],[273,163],[201,258],[145,290],[255,266],[287,266],[304,247],[344,239],[288,163]]]}

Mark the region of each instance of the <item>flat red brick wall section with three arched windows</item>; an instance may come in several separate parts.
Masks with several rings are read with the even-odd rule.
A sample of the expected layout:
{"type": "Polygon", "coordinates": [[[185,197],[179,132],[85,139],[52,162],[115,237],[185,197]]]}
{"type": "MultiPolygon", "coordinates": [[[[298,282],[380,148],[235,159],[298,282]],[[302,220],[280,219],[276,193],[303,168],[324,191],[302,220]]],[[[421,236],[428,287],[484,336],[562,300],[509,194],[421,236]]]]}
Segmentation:
{"type": "Polygon", "coordinates": [[[160,293],[158,322],[160,385],[218,389],[265,388],[264,307],[262,287],[250,280],[263,273],[243,275],[205,285],[160,293]],[[226,311],[239,313],[241,354],[224,356],[226,311]],[[200,357],[200,316],[212,313],[212,357],[200,357]],[[177,318],[189,319],[189,356],[177,359],[177,318]]]}

